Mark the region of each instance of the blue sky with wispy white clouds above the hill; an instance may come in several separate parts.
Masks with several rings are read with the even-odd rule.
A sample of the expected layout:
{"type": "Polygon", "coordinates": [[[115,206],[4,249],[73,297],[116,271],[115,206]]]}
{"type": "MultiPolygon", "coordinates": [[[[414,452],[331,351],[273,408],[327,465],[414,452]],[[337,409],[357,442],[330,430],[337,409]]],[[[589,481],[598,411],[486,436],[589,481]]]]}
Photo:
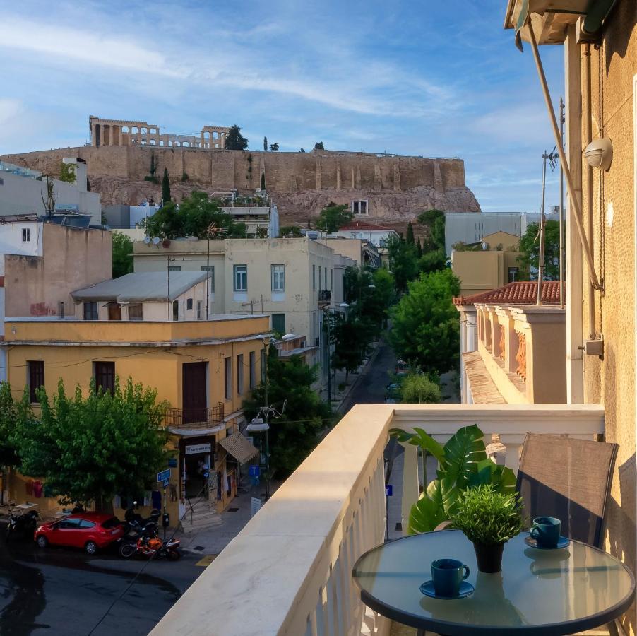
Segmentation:
{"type": "MultiPolygon", "coordinates": [[[[484,211],[537,211],[554,147],[506,0],[0,0],[0,154],[90,141],[90,114],[249,148],[460,157],[484,211]]],[[[562,47],[542,47],[555,105],[562,47]]],[[[548,171],[547,206],[559,202],[548,171]]]]}

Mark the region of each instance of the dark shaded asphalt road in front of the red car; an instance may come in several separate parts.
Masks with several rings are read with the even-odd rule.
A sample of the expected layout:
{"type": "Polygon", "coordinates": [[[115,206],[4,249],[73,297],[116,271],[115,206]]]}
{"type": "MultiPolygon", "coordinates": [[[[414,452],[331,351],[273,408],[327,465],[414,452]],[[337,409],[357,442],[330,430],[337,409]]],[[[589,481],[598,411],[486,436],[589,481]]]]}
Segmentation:
{"type": "MultiPolygon", "coordinates": [[[[4,531],[4,526],[0,526],[4,531]]],[[[203,555],[179,561],[122,560],[114,550],[89,556],[0,538],[0,634],[143,636],[203,572],[203,555]],[[115,603],[144,567],[129,591],[115,603]],[[98,625],[99,623],[99,625],[98,625]]]]}

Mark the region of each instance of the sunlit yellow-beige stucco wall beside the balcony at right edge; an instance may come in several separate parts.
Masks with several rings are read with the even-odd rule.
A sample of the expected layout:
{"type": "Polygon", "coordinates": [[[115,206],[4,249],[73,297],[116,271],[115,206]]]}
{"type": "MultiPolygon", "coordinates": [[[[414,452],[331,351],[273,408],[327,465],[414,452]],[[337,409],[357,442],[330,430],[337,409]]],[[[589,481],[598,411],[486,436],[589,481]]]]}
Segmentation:
{"type": "MultiPolygon", "coordinates": [[[[585,356],[585,401],[601,402],[606,413],[606,438],[619,444],[617,468],[608,512],[612,552],[636,569],[635,465],[635,225],[633,76],[637,73],[637,4],[619,1],[605,25],[602,46],[591,47],[593,139],[608,136],[613,162],[608,172],[593,170],[593,225],[586,223],[587,164],[583,163],[583,217],[593,237],[597,273],[605,283],[595,293],[595,333],[604,338],[604,359],[585,356]]],[[[582,83],[586,82],[583,49],[582,83]]],[[[583,124],[588,116],[583,103],[583,124]]],[[[582,147],[585,139],[582,126],[582,147]]],[[[584,265],[584,271],[586,271],[584,265]]],[[[586,276],[584,277],[586,281],[586,276]]],[[[588,285],[584,288],[583,338],[588,338],[588,285]]],[[[636,613],[627,615],[631,633],[636,613]]]]}

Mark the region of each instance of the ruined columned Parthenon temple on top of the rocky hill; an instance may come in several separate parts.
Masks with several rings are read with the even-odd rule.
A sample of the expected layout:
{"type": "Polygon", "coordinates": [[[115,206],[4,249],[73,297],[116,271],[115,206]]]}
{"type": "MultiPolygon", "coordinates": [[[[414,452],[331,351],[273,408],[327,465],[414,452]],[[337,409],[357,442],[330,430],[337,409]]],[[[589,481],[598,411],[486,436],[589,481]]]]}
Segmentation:
{"type": "Polygon", "coordinates": [[[159,126],[127,119],[88,118],[91,146],[176,146],[182,148],[225,148],[230,128],[203,126],[198,135],[160,133],[159,126]]]}

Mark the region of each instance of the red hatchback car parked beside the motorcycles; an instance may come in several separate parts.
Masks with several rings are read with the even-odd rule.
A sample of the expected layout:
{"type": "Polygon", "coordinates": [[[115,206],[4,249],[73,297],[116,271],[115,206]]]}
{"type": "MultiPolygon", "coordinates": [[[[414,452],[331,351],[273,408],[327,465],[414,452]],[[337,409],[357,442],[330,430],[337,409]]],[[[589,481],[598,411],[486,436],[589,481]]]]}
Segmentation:
{"type": "Polygon", "coordinates": [[[51,543],[52,546],[84,548],[88,554],[95,554],[98,548],[106,548],[123,535],[124,526],[112,514],[81,512],[42,524],[35,531],[35,541],[40,548],[51,543]]]}

